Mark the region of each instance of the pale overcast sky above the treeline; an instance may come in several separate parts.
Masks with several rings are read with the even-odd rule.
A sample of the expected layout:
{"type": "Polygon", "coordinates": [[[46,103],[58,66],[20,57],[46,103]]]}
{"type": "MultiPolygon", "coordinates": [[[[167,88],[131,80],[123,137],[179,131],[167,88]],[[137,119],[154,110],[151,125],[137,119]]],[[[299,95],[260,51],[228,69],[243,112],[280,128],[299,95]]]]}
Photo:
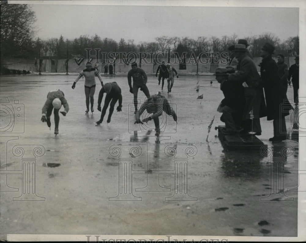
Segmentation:
{"type": "Polygon", "coordinates": [[[117,42],[121,38],[134,39],[138,44],[155,41],[163,35],[197,39],[235,33],[238,38],[244,38],[271,32],[283,41],[299,33],[299,9],[292,7],[30,6],[37,18],[37,37],[44,40],[60,35],[74,39],[97,34],[117,42]]]}

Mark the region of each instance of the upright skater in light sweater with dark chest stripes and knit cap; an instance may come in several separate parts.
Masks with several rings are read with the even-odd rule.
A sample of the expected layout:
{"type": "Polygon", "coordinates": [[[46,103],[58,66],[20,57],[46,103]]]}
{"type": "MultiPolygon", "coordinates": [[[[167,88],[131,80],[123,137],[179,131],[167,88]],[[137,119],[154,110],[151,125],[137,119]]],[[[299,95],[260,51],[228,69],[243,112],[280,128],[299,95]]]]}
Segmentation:
{"type": "Polygon", "coordinates": [[[101,82],[101,85],[103,86],[102,78],[100,76],[100,73],[97,69],[92,67],[91,62],[87,62],[85,64],[86,69],[84,69],[80,74],[76,77],[76,79],[73,82],[72,88],[74,89],[76,87],[76,82],[82,78],[85,77],[85,96],[86,96],[86,113],[89,112],[89,101],[91,105],[91,112],[94,112],[94,94],[95,94],[95,76],[98,77],[98,79],[101,82]]]}

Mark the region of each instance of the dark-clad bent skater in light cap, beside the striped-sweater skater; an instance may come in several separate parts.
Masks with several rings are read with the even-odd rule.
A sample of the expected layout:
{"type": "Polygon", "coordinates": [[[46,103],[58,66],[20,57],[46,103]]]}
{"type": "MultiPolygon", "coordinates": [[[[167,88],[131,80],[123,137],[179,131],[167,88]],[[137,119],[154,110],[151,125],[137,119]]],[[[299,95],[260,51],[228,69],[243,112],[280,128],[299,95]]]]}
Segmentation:
{"type": "Polygon", "coordinates": [[[102,87],[102,89],[99,92],[99,98],[98,98],[98,111],[101,111],[101,102],[103,99],[103,93],[106,93],[106,97],[104,100],[104,106],[101,112],[101,118],[99,121],[97,121],[97,125],[103,122],[103,118],[106,113],[106,109],[108,105],[110,104],[110,112],[108,114],[107,123],[110,123],[110,118],[113,114],[114,107],[116,102],[119,100],[119,106],[117,107],[117,111],[121,111],[122,108],[122,95],[121,95],[121,89],[119,85],[116,82],[112,83],[106,83],[102,87]]]}

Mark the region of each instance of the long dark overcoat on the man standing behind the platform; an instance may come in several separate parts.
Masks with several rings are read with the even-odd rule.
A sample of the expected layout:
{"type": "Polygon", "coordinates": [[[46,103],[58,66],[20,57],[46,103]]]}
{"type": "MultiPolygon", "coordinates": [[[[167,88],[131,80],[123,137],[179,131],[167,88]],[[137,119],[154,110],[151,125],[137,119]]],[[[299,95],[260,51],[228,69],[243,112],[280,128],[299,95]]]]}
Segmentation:
{"type": "Polygon", "coordinates": [[[282,91],[281,80],[278,76],[278,67],[272,56],[263,58],[260,65],[260,84],[264,88],[266,104],[267,104],[267,120],[279,119],[289,115],[288,109],[284,108],[284,102],[288,102],[286,95],[282,91]],[[281,107],[281,104],[282,107],[281,107]],[[282,110],[282,111],[281,111],[282,110]]]}

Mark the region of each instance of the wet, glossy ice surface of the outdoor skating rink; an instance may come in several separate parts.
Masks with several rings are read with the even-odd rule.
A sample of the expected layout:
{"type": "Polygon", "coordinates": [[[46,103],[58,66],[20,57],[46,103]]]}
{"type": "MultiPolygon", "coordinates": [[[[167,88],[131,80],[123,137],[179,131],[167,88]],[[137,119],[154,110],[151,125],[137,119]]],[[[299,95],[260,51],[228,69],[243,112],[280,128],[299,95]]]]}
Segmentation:
{"type": "MultiPolygon", "coordinates": [[[[287,189],[298,186],[290,173],[298,169],[298,142],[272,146],[272,121],[264,117],[258,138],[273,155],[224,149],[214,129],[224,124],[216,111],[223,94],[216,80],[210,84],[213,76],[180,76],[171,94],[165,83],[163,94],[178,119],[176,124],[170,116],[160,118],[164,131],[158,140],[153,121],[134,124],[126,76],[102,75],[104,83],[121,87],[123,107],[114,110],[109,124],[107,110],[95,126],[101,85],[96,79],[95,111],[85,114],[84,79],[71,88],[76,75],[1,77],[2,101],[9,99],[1,105],[14,110],[16,123],[10,127],[10,114],[1,112],[1,239],[6,234],[297,236],[297,192],[287,189]],[[60,114],[54,136],[53,114],[51,130],[40,118],[47,93],[57,88],[70,110],[60,114]],[[292,153],[284,157],[287,145],[292,153]],[[270,172],[277,158],[285,171],[272,173],[280,183],[274,185],[270,172]]],[[[147,86],[150,94],[161,90],[155,77],[148,77],[147,86]]],[[[293,88],[287,95],[293,98],[293,88]]],[[[144,98],[139,90],[138,99],[144,98]]],[[[289,116],[286,124],[292,132],[289,116]]]]}

